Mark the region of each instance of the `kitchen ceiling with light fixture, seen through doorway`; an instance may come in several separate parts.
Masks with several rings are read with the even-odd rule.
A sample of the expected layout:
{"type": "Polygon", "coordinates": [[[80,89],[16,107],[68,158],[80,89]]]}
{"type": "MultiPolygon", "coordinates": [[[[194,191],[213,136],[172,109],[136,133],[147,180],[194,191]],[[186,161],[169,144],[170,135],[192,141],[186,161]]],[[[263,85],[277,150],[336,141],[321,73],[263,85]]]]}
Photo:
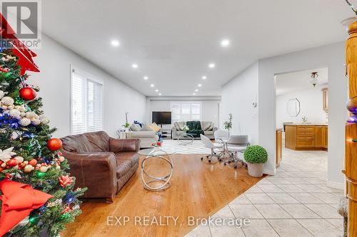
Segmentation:
{"type": "Polygon", "coordinates": [[[311,90],[320,88],[321,85],[328,83],[328,68],[318,68],[314,70],[302,70],[294,73],[284,73],[276,75],[276,95],[283,95],[300,90],[311,90]],[[311,73],[318,73],[318,83],[313,87],[308,80],[311,78],[311,73]]]}

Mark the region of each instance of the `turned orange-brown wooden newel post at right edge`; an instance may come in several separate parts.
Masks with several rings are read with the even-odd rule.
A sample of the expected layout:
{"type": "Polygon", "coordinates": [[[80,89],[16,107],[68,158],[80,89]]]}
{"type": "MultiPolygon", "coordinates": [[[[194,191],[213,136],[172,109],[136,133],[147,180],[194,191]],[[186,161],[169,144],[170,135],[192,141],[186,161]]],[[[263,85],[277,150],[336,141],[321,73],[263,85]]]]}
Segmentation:
{"type": "Polygon", "coordinates": [[[357,236],[357,21],[348,27],[346,73],[348,73],[348,110],[346,122],[345,175],[348,198],[348,236],[357,236]]]}

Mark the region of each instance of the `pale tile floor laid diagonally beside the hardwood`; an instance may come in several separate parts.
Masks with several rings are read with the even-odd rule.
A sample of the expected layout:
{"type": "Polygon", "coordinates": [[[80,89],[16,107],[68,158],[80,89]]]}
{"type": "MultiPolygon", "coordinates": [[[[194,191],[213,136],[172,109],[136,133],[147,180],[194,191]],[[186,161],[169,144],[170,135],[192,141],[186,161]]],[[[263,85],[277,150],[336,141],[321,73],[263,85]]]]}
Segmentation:
{"type": "Polygon", "coordinates": [[[274,177],[266,177],[211,218],[249,218],[250,225],[198,226],[186,237],[343,236],[336,206],[343,190],[326,186],[327,152],[283,149],[274,177]]]}

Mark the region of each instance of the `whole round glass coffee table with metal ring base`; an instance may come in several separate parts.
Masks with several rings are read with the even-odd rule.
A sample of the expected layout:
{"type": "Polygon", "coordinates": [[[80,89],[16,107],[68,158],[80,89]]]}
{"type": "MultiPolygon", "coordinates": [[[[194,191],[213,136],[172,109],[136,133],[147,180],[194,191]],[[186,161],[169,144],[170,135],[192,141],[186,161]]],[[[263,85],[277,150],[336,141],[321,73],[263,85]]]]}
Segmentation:
{"type": "MultiPolygon", "coordinates": [[[[149,149],[141,149],[139,150],[138,154],[145,156],[141,162],[141,181],[143,181],[144,189],[149,191],[164,191],[166,189],[169,189],[169,187],[171,186],[170,180],[172,177],[172,173],[174,172],[174,163],[172,162],[170,154],[174,154],[174,152],[155,147],[149,149]],[[150,160],[154,161],[154,159],[159,159],[169,164],[169,173],[161,176],[149,174],[149,170],[146,164],[150,160]]],[[[160,167],[158,168],[160,169],[160,167]]]]}

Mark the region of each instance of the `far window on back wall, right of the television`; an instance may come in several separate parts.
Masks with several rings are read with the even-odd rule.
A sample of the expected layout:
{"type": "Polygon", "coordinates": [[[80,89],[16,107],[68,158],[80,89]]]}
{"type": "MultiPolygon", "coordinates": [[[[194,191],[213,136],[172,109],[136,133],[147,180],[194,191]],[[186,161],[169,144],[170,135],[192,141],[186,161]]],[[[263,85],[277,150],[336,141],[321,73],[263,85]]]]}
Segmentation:
{"type": "Polygon", "coordinates": [[[201,102],[171,102],[172,123],[201,120],[201,102]]]}

